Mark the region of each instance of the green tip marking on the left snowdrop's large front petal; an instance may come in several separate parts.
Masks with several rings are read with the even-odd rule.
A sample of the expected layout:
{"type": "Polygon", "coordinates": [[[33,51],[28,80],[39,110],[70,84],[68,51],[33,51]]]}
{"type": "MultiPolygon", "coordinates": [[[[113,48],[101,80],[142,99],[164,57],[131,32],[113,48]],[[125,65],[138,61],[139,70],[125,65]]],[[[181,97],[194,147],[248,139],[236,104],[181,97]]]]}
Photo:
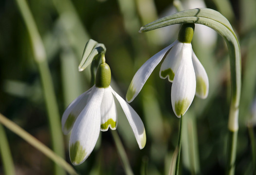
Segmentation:
{"type": "Polygon", "coordinates": [[[70,159],[73,164],[79,164],[81,161],[84,160],[86,156],[85,149],[82,145],[80,145],[79,141],[76,141],[70,146],[70,159]]]}

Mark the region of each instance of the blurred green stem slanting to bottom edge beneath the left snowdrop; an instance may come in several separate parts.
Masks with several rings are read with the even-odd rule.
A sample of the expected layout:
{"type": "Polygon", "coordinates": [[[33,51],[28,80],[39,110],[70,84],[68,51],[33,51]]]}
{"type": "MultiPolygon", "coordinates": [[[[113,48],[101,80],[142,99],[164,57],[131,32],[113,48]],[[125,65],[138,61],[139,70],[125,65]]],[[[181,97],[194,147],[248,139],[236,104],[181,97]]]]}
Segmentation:
{"type": "Polygon", "coordinates": [[[126,174],[127,175],[133,175],[130,164],[129,164],[128,157],[127,157],[126,152],[125,152],[125,148],[124,148],[117,132],[116,131],[111,131],[111,134],[112,134],[113,139],[115,141],[115,145],[116,145],[117,151],[119,153],[119,156],[120,156],[120,158],[121,158],[121,160],[124,164],[126,174]]]}

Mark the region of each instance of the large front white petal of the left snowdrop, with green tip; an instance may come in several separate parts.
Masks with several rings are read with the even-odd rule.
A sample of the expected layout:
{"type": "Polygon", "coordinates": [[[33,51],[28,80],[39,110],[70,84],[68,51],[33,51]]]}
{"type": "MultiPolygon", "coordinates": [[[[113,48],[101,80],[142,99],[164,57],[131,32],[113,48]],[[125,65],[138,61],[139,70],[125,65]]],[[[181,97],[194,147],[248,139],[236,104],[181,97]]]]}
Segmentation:
{"type": "Polygon", "coordinates": [[[70,159],[79,165],[90,156],[100,133],[100,106],[104,88],[93,88],[90,100],[77,117],[69,142],[70,159]]]}

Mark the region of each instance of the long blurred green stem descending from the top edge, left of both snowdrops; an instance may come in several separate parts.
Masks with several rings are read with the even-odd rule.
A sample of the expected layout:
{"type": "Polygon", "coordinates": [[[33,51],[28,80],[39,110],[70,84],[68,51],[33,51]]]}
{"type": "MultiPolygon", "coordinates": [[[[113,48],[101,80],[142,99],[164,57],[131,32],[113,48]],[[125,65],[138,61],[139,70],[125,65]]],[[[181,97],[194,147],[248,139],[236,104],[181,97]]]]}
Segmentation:
{"type": "MultiPolygon", "coordinates": [[[[27,2],[25,0],[16,0],[16,2],[18,4],[18,8],[27,27],[30,40],[32,43],[34,58],[41,76],[41,82],[44,89],[44,98],[48,111],[48,121],[52,136],[53,150],[59,156],[64,157],[64,142],[61,133],[60,116],[58,112],[53,81],[46,59],[45,48],[43,46],[42,39],[38,33],[35,20],[31,14],[27,2]]],[[[63,175],[64,171],[60,167],[55,165],[55,174],[63,175]]]]}

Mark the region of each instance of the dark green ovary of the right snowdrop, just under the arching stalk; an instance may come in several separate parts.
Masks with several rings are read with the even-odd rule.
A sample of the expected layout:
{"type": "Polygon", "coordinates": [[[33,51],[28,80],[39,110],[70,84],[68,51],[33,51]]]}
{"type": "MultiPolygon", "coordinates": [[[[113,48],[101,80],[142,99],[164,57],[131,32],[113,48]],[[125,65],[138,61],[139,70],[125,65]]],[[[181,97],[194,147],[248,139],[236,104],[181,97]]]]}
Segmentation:
{"type": "Polygon", "coordinates": [[[182,43],[191,43],[194,35],[194,29],[195,29],[194,23],[183,24],[179,32],[178,40],[182,43]]]}

